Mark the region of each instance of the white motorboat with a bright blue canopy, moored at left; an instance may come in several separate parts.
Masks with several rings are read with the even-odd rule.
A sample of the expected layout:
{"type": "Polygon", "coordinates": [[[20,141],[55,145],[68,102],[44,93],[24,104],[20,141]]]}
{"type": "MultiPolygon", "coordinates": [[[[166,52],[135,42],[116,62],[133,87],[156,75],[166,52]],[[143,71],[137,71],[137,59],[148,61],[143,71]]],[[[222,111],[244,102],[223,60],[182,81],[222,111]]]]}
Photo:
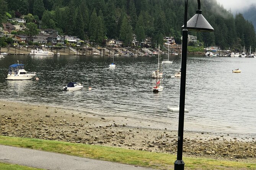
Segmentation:
{"type": "Polygon", "coordinates": [[[12,64],[9,66],[6,80],[30,80],[36,76],[36,72],[27,72],[24,70],[24,64],[12,64]]]}

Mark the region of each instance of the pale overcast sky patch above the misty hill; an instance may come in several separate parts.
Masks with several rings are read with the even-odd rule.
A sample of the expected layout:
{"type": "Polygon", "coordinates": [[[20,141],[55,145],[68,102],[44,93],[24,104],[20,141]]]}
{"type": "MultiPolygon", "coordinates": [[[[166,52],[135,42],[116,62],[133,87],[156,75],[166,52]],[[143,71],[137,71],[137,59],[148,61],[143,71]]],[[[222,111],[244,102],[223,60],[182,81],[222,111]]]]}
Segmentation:
{"type": "Polygon", "coordinates": [[[227,10],[231,9],[233,13],[246,10],[252,5],[256,6],[256,0],[217,0],[217,2],[227,10]]]}

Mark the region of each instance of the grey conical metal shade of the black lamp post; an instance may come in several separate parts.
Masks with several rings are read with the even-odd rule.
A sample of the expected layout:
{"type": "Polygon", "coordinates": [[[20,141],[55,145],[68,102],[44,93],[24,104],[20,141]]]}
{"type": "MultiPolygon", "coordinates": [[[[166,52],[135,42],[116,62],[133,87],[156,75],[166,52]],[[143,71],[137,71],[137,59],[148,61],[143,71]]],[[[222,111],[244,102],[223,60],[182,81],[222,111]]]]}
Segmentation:
{"type": "MultiPolygon", "coordinates": [[[[182,28],[184,28],[184,25],[182,28]]],[[[189,19],[187,22],[187,29],[190,31],[214,32],[214,28],[204,18],[201,10],[197,10],[196,14],[191,19],[189,19]]]]}

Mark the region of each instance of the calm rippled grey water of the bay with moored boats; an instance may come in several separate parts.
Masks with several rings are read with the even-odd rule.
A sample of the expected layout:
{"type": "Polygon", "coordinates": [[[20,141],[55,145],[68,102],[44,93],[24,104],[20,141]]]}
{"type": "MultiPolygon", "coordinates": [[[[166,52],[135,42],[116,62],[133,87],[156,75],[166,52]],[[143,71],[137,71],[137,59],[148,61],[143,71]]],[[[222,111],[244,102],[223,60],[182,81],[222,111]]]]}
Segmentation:
{"type": "MultiPolygon", "coordinates": [[[[163,56],[167,59],[167,56],[163,56]]],[[[157,57],[115,57],[117,67],[109,69],[112,57],[104,56],[19,56],[0,60],[0,95],[9,101],[78,108],[98,114],[157,120],[178,128],[178,112],[167,106],[179,104],[180,58],[163,66],[158,94],[151,88],[157,57]],[[7,81],[8,66],[25,64],[39,81],[7,81]],[[70,81],[81,82],[80,91],[62,91],[70,81]],[[88,91],[88,87],[92,87],[88,91]]],[[[189,56],[186,79],[185,130],[256,135],[256,58],[209,58],[189,56]],[[232,69],[241,69],[240,74],[232,69]]]]}

